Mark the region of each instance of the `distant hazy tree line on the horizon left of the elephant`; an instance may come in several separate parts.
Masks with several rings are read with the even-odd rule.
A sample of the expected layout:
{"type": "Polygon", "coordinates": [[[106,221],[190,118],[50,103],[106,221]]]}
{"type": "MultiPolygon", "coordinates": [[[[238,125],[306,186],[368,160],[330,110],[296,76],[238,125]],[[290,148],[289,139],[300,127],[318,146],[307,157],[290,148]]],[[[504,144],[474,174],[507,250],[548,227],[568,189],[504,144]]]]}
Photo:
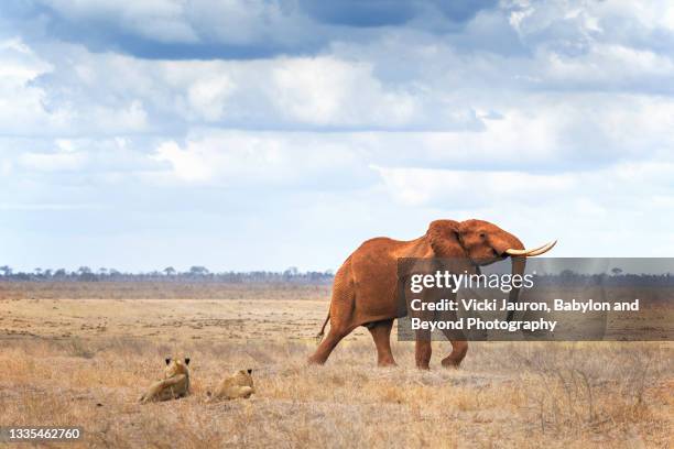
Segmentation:
{"type": "Polygon", "coordinates": [[[298,284],[329,284],[333,282],[331,271],[301,272],[291,266],[283,272],[251,271],[251,272],[221,272],[213,273],[205,266],[191,266],[188,271],[181,272],[173,266],[162,271],[146,273],[126,273],[115,269],[100,267],[91,270],[80,266],[75,271],[65,269],[34,269],[32,272],[14,272],[11,266],[0,266],[0,280],[3,281],[58,281],[58,282],[133,282],[133,281],[162,281],[162,282],[222,282],[222,283],[298,283],[298,284]]]}

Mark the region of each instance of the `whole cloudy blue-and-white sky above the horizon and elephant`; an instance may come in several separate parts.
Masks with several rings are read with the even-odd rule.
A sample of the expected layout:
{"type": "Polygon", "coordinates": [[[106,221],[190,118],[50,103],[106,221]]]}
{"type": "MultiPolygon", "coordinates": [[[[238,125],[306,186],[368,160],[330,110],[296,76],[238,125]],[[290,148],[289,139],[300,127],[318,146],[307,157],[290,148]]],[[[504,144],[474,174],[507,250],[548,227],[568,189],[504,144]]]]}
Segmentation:
{"type": "Polygon", "coordinates": [[[671,1],[9,0],[0,264],[336,269],[482,218],[674,255],[671,1]]]}

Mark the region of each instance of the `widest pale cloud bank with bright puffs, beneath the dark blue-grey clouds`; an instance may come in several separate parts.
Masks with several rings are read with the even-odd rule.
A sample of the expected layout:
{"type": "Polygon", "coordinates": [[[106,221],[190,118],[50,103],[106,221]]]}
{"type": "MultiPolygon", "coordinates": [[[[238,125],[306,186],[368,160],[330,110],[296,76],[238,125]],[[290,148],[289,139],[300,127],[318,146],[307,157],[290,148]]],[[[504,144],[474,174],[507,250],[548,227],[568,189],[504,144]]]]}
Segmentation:
{"type": "Polygon", "coordinates": [[[464,105],[448,109],[425,92],[414,94],[413,85],[381,83],[366,62],[331,56],[153,62],[72,45],[58,50],[68,57],[54,58],[54,74],[37,86],[42,103],[63,111],[64,120],[44,133],[138,132],[171,129],[172,121],[300,129],[461,129],[479,121],[464,105]]]}

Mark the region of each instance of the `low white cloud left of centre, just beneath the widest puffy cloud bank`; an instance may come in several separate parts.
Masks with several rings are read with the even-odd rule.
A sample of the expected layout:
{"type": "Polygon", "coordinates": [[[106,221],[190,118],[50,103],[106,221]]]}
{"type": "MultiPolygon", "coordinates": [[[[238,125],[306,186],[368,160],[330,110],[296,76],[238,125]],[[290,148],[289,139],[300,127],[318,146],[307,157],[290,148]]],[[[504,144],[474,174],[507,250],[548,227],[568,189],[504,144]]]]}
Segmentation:
{"type": "Polygon", "coordinates": [[[171,171],[151,173],[150,182],[202,183],[228,188],[302,189],[358,179],[358,152],[320,133],[249,133],[205,129],[181,147],[160,144],[151,158],[168,162],[171,171]]]}

